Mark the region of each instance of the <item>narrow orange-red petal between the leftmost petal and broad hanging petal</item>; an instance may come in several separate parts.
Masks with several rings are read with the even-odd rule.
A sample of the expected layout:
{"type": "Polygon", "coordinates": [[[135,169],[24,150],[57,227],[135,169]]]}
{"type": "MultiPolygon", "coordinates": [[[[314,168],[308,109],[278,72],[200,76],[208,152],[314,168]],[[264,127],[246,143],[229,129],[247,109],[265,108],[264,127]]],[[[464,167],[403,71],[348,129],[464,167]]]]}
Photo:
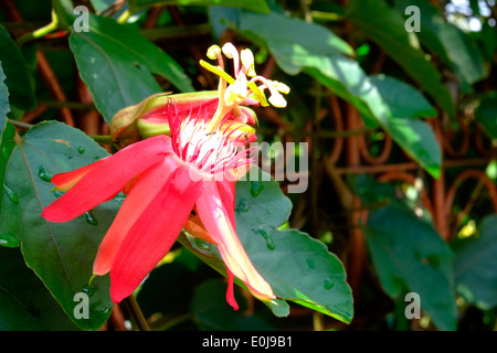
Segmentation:
{"type": "Polygon", "coordinates": [[[163,163],[151,167],[139,176],[98,247],[93,265],[95,275],[102,276],[110,270],[114,258],[129,229],[157,196],[160,186],[167,182],[177,167],[175,158],[166,158],[163,163]]]}

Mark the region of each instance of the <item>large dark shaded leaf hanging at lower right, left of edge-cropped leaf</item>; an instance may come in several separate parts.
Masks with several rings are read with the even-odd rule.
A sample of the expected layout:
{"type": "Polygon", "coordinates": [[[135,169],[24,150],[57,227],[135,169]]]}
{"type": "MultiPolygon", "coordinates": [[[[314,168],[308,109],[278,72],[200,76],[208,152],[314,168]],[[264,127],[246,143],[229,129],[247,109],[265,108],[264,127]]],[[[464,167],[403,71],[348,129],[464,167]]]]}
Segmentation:
{"type": "Polygon", "coordinates": [[[406,204],[392,197],[393,189],[387,183],[361,181],[359,185],[362,185],[359,196],[362,200],[367,195],[367,203],[389,202],[387,206],[371,210],[367,224],[362,225],[383,289],[401,301],[405,291],[419,293],[421,308],[435,325],[440,330],[455,330],[451,248],[429,222],[416,217],[406,204]]]}

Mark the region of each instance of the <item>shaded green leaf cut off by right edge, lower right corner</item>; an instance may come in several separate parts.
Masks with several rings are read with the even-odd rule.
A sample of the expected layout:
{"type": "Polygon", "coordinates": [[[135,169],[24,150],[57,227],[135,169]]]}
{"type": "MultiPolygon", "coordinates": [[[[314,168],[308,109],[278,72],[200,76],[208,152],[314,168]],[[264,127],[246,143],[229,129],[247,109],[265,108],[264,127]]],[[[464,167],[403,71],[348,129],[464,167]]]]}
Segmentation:
{"type": "Polygon", "coordinates": [[[486,216],[478,235],[455,248],[456,289],[465,299],[487,310],[497,306],[497,215],[486,216]]]}

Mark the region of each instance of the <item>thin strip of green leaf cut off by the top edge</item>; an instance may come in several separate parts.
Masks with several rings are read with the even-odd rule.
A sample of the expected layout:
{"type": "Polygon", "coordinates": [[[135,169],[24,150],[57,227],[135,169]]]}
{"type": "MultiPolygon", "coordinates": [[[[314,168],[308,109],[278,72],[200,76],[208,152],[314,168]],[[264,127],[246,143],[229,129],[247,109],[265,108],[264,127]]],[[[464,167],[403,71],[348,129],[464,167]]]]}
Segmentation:
{"type": "Polygon", "coordinates": [[[129,8],[136,12],[155,6],[195,6],[195,7],[233,7],[256,12],[269,12],[265,0],[129,0],[129,8]]]}

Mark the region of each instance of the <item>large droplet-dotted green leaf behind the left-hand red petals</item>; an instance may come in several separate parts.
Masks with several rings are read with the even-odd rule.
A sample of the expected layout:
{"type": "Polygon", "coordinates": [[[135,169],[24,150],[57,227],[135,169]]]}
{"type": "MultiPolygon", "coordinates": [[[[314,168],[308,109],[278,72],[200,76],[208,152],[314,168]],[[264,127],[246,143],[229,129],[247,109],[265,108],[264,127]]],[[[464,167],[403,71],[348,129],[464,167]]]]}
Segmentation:
{"type": "Polygon", "coordinates": [[[82,131],[60,122],[43,122],[29,130],[7,161],[0,208],[0,238],[17,238],[28,267],[41,278],[70,318],[82,329],[95,330],[113,308],[108,276],[88,286],[98,245],[119,202],[112,200],[66,223],[41,217],[60,194],[51,175],[87,165],[108,153],[82,131]],[[89,296],[89,318],[76,319],[74,295],[89,296]]]}

